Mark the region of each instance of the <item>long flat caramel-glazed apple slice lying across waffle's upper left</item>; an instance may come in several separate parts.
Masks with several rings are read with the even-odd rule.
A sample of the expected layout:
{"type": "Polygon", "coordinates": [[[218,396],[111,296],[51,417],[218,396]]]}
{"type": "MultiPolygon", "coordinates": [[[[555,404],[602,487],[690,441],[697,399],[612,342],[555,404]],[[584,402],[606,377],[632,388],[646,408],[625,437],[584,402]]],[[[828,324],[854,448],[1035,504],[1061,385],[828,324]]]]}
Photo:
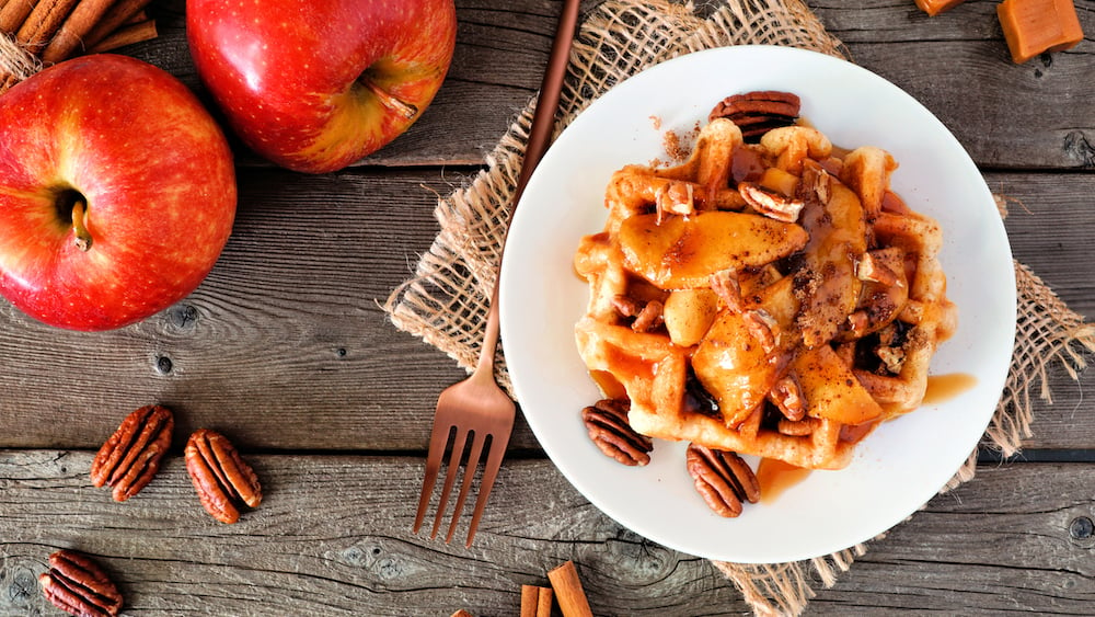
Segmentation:
{"type": "Polygon", "coordinates": [[[662,289],[706,287],[722,270],[760,266],[800,250],[809,240],[795,224],[727,212],[633,216],[620,226],[624,264],[662,289]]]}

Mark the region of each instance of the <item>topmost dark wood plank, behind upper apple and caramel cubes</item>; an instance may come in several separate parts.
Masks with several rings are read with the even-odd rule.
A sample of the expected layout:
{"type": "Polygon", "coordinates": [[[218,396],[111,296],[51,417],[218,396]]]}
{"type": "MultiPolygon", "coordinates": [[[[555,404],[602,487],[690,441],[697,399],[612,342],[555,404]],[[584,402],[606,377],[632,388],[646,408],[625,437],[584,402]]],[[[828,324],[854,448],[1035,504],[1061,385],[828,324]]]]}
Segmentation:
{"type": "MultiPolygon", "coordinates": [[[[1003,41],[995,2],[969,1],[936,18],[908,2],[807,3],[848,45],[854,61],[921,101],[978,164],[1095,164],[1090,43],[1016,66],[1003,41]]],[[[583,11],[593,5],[587,0],[583,11]]],[[[181,0],[159,7],[160,36],[125,53],[170,70],[201,92],[186,48],[182,7],[181,0]]],[[[1084,31],[1095,31],[1095,0],[1079,0],[1076,7],[1084,31]]],[[[539,88],[558,10],[558,2],[537,0],[515,0],[504,8],[483,0],[458,2],[457,53],[437,99],[404,136],[362,162],[482,162],[539,88]]],[[[253,156],[242,156],[241,162],[263,164],[253,156]]]]}

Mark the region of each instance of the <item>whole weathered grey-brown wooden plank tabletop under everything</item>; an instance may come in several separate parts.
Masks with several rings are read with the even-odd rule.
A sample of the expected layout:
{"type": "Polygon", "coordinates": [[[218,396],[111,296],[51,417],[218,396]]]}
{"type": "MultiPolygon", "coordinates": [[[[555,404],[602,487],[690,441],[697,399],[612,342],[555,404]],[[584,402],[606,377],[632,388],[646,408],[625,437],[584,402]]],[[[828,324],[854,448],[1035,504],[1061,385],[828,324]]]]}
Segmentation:
{"type": "MultiPolygon", "coordinates": [[[[410,532],[436,397],[463,372],[385,322],[378,302],[433,240],[435,193],[474,174],[535,92],[561,4],[458,1],[456,58],[435,104],[347,171],[290,173],[240,149],[234,235],[170,310],[82,334],[0,306],[0,615],[57,614],[35,576],[62,547],[95,556],[132,615],[516,615],[520,585],[545,585],[565,560],[598,614],[749,610],[707,561],[590,505],[520,419],[475,545],[410,532]],[[175,447],[117,504],[92,488],[89,464],[149,402],[176,411],[175,447]],[[231,435],[263,479],[265,501],[239,524],[212,521],[186,476],[182,443],[201,426],[231,435]]],[[[1015,256],[1095,313],[1091,41],[1015,66],[993,1],[934,19],[912,0],[810,4],[1012,199],[1015,256]]],[[[182,5],[153,4],[160,38],[123,53],[201,93],[182,5]]],[[[1095,32],[1095,2],[1077,7],[1095,32]]],[[[1095,610],[1093,384],[1051,370],[1053,403],[1035,401],[1023,455],[982,453],[976,479],[873,542],[808,614],[1095,610]]]]}

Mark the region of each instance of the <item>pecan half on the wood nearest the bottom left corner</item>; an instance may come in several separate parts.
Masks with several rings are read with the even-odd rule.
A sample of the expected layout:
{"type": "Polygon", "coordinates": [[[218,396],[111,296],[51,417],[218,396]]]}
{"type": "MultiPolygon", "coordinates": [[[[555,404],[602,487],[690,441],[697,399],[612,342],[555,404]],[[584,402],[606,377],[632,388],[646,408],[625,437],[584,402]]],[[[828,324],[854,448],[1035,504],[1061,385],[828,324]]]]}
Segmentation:
{"type": "Polygon", "coordinates": [[[42,593],[54,606],[78,617],[115,617],[122,594],[88,557],[71,550],[49,556],[49,571],[38,576],[42,593]]]}

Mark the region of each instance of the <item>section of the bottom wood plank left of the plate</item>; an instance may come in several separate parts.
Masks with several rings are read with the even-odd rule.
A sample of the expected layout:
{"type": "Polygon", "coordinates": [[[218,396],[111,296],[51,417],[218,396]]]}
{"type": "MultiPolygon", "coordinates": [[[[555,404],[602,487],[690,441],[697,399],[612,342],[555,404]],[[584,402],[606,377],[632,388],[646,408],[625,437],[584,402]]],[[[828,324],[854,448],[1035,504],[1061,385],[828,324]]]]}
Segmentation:
{"type": "Polygon", "coordinates": [[[516,615],[521,584],[546,584],[567,559],[608,613],[744,606],[705,561],[621,529],[543,461],[504,467],[465,549],[411,535],[419,459],[249,459],[265,499],[226,526],[201,510],[178,458],[115,504],[91,488],[88,454],[0,454],[0,614],[45,606],[26,581],[61,547],[101,560],[129,609],[148,615],[516,615]]]}

